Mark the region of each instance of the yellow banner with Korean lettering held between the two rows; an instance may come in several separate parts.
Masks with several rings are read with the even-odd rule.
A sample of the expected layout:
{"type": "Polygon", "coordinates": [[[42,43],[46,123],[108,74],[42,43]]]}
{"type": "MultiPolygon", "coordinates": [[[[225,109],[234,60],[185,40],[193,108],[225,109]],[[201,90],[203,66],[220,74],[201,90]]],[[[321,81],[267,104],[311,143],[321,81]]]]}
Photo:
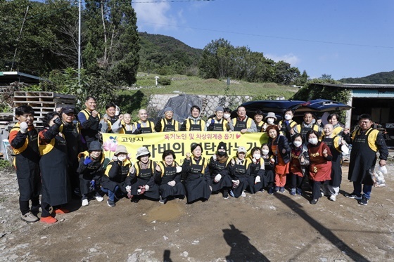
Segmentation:
{"type": "MultiPolygon", "coordinates": [[[[163,133],[145,133],[141,135],[126,135],[121,133],[103,133],[103,148],[106,159],[110,160],[117,145],[125,145],[129,158],[136,162],[136,150],[141,147],[148,148],[151,159],[161,161],[165,150],[174,150],[177,162],[182,163],[186,152],[190,152],[192,143],[203,145],[203,156],[211,157],[217,150],[220,142],[227,144],[227,153],[236,155],[236,150],[244,146],[249,151],[267,143],[266,133],[240,132],[209,132],[209,131],[179,131],[163,133]]],[[[108,161],[107,161],[108,162],[108,161]]]]}

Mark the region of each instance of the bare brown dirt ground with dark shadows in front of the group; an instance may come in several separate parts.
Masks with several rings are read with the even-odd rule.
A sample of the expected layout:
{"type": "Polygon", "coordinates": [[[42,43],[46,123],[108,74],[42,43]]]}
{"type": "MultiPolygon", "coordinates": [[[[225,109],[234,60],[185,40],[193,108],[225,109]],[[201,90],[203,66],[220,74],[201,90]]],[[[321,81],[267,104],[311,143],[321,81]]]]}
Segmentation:
{"type": "Polygon", "coordinates": [[[344,166],[336,202],[288,191],[191,205],[75,200],[53,225],[20,220],[15,173],[2,172],[0,261],[394,261],[393,161],[388,171],[367,206],[343,196],[344,166]]]}

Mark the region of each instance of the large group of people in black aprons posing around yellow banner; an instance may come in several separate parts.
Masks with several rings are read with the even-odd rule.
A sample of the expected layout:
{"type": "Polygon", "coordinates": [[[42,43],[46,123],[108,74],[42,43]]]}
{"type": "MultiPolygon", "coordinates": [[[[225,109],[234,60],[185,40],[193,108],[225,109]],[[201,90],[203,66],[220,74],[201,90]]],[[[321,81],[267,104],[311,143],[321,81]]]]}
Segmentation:
{"type": "Polygon", "coordinates": [[[106,106],[106,114],[101,117],[91,96],[85,100],[85,107],[77,116],[71,107],[49,112],[43,119],[44,129],[39,132],[34,128],[32,107],[15,109],[18,123],[9,133],[9,142],[15,153],[24,221],[56,223],[56,214],[68,212],[64,206],[71,195],[80,197],[82,206],[88,206],[91,199],[102,202],[104,194],[108,195],[109,207],[115,207],[122,197],[163,204],[186,197],[191,204],[206,201],[215,192],[222,193],[224,199],[264,190],[269,194],[284,193],[286,185],[291,195],[303,195],[303,183],[307,180],[312,188],[310,204],[317,204],[324,195],[336,201],[342,177],[342,148],[348,144],[352,144],[348,178],[354,190],[345,196],[365,205],[371,197],[373,181],[369,170],[376,164],[376,152],[380,153],[381,166],[388,157],[384,138],[372,129],[373,122],[367,114],[360,116],[359,128],[350,133],[338,122],[336,114],[329,116],[329,124],[321,126],[310,112],[298,124],[292,110],[277,122],[274,112],[264,117],[263,112],[257,111],[252,119],[242,106],[231,119],[231,110],[219,106],[205,122],[200,117],[201,109],[193,105],[182,124],[172,118],[170,107],[165,108],[163,118],[155,124],[148,120],[144,109],[138,112],[139,120],[132,123],[131,115],[120,114],[113,103],[106,106]],[[117,145],[113,158],[104,164],[101,133],[167,131],[265,132],[268,141],[249,152],[240,146],[234,156],[229,155],[226,143],[220,142],[209,159],[203,156],[203,146],[193,143],[182,165],[177,164],[172,150],[165,150],[162,161],[155,162],[146,147],[136,151],[137,161],[133,163],[127,148],[117,145]],[[38,218],[40,207],[42,214],[38,218]]]}

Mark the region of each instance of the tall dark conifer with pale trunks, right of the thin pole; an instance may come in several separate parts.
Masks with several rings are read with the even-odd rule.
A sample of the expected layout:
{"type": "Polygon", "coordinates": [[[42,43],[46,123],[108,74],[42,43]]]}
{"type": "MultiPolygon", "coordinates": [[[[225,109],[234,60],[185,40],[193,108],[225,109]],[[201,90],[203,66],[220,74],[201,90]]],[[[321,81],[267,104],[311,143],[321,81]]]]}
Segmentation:
{"type": "Polygon", "coordinates": [[[136,13],[127,1],[87,1],[84,12],[87,48],[84,66],[98,68],[114,84],[134,84],[139,65],[136,13]]]}

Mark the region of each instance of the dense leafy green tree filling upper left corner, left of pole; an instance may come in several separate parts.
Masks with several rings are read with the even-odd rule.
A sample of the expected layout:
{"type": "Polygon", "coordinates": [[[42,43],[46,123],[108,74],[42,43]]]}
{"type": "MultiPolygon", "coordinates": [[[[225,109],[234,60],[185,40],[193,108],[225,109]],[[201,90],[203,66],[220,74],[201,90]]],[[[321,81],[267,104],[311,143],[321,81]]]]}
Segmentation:
{"type": "Polygon", "coordinates": [[[77,50],[70,34],[75,32],[77,15],[77,8],[66,0],[45,4],[0,1],[0,69],[8,71],[13,67],[45,76],[51,70],[75,66],[77,50]]]}

